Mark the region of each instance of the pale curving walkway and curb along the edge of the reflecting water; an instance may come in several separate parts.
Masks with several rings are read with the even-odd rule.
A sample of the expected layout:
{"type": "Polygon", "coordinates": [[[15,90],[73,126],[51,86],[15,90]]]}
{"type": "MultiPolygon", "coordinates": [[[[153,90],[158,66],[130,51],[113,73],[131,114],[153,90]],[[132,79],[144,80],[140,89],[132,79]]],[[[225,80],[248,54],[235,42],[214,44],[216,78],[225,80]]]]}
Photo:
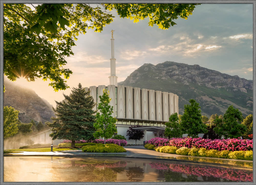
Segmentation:
{"type": "Polygon", "coordinates": [[[143,146],[125,146],[127,152],[122,153],[89,153],[81,150],[56,151],[56,152],[22,152],[22,153],[5,153],[5,156],[65,156],[65,157],[129,157],[129,158],[147,158],[153,160],[171,160],[186,163],[200,163],[202,165],[218,165],[239,168],[252,169],[252,161],[220,159],[209,157],[191,157],[185,155],[160,153],[153,150],[145,149],[143,146]]]}

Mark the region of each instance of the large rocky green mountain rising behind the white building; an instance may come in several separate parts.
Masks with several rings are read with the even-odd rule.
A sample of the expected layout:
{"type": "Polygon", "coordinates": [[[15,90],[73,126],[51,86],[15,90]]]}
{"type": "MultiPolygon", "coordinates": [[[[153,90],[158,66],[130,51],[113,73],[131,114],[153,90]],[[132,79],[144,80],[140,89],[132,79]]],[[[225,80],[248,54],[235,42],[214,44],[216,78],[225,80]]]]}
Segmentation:
{"type": "Polygon", "coordinates": [[[179,96],[179,114],[184,105],[195,99],[201,114],[224,114],[230,105],[243,116],[253,112],[253,82],[219,71],[166,61],[161,64],[144,64],[118,85],[172,92],[179,96]]]}

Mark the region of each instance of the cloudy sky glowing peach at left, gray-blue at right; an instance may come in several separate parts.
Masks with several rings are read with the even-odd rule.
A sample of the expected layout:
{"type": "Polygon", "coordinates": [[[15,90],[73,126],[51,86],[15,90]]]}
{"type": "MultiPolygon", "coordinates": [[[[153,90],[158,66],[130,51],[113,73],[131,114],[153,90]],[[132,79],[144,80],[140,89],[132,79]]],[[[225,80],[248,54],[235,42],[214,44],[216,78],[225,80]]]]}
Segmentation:
{"type": "MultiPolygon", "coordinates": [[[[187,20],[178,18],[168,30],[148,26],[149,19],[133,23],[120,18],[115,10],[113,22],[101,33],[87,30],[72,47],[67,65],[73,74],[67,80],[70,89],[55,92],[41,78],[35,82],[17,79],[13,84],[33,89],[54,107],[72,87],[108,85],[111,58],[111,30],[114,30],[116,76],[124,81],[145,63],[175,61],[253,79],[253,6],[252,4],[201,4],[187,20]]],[[[7,80],[7,78],[5,78],[7,80]]]]}

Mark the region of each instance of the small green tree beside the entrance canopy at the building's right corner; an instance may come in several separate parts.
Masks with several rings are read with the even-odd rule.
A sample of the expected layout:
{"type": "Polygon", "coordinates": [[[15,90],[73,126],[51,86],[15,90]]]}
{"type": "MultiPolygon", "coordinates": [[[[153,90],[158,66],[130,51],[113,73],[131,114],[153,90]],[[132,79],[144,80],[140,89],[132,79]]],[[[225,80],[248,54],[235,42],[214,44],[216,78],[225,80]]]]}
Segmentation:
{"type": "Polygon", "coordinates": [[[180,123],[178,114],[174,113],[170,115],[169,122],[165,123],[166,128],[164,135],[169,138],[181,138],[182,137],[182,131],[180,129],[180,123]]]}

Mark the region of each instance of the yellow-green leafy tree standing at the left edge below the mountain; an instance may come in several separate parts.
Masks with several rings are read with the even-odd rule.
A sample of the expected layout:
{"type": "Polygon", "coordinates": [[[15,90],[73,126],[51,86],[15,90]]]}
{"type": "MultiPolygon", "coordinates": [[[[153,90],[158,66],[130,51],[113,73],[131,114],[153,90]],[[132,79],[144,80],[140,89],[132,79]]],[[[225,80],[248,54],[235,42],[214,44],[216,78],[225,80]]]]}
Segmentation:
{"type": "Polygon", "coordinates": [[[4,138],[11,137],[18,133],[18,114],[19,111],[13,107],[4,107],[4,138]]]}

